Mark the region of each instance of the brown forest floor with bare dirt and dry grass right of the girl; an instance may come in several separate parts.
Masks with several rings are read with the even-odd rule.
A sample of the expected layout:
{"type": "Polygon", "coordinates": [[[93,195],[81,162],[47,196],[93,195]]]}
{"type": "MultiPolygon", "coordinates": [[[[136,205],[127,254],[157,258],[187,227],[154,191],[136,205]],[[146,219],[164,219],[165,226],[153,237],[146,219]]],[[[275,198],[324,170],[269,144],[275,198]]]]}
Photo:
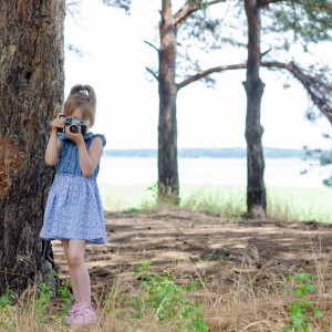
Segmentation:
{"type": "MultiPolygon", "coordinates": [[[[86,249],[93,305],[102,317],[91,331],[282,331],[294,301],[294,293],[284,288],[293,289],[295,279],[287,280],[308,276],[300,273],[312,277],[314,291],[305,300],[323,318],[314,318],[311,307],[305,307],[309,315],[301,314],[312,331],[332,331],[331,225],[228,220],[184,208],[105,212],[105,224],[107,243],[86,249]],[[175,300],[176,287],[186,290],[190,284],[197,289],[177,293],[175,300]],[[169,292],[159,303],[164,291],[169,292]],[[173,308],[164,303],[170,299],[177,301],[173,307],[178,315],[158,321],[164,307],[173,308]],[[191,320],[189,330],[178,328],[184,312],[189,312],[184,299],[203,305],[208,330],[193,328],[200,322],[197,311],[186,319],[186,324],[191,320]],[[146,305],[155,308],[153,315],[146,305]]],[[[60,277],[68,279],[56,241],[53,252],[60,277]]]]}

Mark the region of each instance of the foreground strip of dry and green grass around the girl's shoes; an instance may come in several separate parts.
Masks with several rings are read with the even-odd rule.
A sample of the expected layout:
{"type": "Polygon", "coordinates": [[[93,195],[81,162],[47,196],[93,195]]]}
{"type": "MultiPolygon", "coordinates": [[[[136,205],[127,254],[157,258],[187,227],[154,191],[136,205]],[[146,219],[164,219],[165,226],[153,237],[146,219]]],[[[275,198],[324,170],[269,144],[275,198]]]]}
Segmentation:
{"type": "Polygon", "coordinates": [[[126,278],[93,288],[96,324],[70,329],[63,320],[68,302],[51,298],[43,284],[3,303],[0,331],[331,331],[326,263],[317,261],[314,274],[284,270],[284,277],[278,266],[241,273],[219,268],[214,278],[204,278],[201,268],[208,262],[181,263],[184,273],[177,263],[160,271],[145,262],[132,267],[126,278]],[[235,282],[229,282],[230,276],[235,282]],[[263,276],[263,281],[258,278],[263,276]]]}

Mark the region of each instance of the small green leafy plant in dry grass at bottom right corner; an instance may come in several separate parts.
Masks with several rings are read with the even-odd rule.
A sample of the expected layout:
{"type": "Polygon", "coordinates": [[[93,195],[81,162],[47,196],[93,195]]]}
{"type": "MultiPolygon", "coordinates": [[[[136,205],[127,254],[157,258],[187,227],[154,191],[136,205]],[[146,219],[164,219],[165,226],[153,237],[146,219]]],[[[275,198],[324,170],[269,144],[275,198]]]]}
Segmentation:
{"type": "Polygon", "coordinates": [[[322,318],[322,311],[314,307],[313,303],[307,299],[309,293],[315,291],[314,286],[311,283],[312,274],[298,273],[294,277],[288,277],[287,283],[291,283],[291,288],[284,288],[284,291],[295,297],[295,300],[289,304],[291,325],[287,325],[282,331],[309,331],[310,317],[322,318]]]}

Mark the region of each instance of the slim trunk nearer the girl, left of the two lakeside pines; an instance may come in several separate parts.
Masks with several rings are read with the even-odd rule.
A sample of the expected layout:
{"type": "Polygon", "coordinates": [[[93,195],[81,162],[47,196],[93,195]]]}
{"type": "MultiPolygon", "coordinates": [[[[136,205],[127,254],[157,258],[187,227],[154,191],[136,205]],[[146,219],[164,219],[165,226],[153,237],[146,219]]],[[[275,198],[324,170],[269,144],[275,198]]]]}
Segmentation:
{"type": "Polygon", "coordinates": [[[170,0],[163,0],[159,33],[158,200],[178,204],[176,28],[170,0]]]}

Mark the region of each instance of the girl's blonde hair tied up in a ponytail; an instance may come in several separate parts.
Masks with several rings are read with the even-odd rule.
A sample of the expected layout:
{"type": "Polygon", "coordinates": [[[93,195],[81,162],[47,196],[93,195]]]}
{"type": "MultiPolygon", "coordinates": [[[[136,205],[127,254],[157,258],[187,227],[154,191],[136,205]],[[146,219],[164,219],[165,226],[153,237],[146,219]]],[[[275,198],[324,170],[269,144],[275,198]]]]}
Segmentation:
{"type": "Polygon", "coordinates": [[[64,115],[71,116],[76,108],[81,110],[83,117],[89,120],[89,126],[92,127],[96,108],[96,96],[92,86],[76,84],[71,89],[64,103],[64,115]]]}

